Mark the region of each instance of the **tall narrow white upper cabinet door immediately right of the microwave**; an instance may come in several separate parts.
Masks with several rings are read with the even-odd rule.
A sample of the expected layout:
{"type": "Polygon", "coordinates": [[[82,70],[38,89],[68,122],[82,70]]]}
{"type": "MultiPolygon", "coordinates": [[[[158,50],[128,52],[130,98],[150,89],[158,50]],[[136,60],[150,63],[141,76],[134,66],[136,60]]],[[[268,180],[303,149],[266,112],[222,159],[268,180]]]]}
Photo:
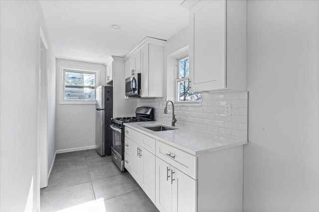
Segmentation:
{"type": "Polygon", "coordinates": [[[142,97],[149,96],[149,45],[141,49],[141,90],[142,97]]]}

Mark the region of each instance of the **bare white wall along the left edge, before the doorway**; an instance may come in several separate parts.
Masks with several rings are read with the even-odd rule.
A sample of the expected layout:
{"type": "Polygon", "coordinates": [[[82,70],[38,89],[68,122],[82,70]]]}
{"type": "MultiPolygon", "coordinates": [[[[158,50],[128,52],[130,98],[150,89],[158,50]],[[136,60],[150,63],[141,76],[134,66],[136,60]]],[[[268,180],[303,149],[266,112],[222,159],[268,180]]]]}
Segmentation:
{"type": "MultiPolygon", "coordinates": [[[[36,212],[40,206],[37,161],[40,27],[48,38],[38,1],[0,1],[1,212],[36,212]]],[[[54,60],[52,52],[48,57],[54,60]]],[[[49,72],[51,65],[47,66],[49,72]]]]}

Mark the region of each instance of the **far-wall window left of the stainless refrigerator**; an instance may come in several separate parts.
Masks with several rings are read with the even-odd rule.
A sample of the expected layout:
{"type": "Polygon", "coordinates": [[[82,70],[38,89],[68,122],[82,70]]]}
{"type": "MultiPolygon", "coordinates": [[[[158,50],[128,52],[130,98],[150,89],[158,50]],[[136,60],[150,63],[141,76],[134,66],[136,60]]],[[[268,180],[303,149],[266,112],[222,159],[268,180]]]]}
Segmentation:
{"type": "Polygon", "coordinates": [[[94,103],[97,71],[62,69],[60,103],[94,103]]]}

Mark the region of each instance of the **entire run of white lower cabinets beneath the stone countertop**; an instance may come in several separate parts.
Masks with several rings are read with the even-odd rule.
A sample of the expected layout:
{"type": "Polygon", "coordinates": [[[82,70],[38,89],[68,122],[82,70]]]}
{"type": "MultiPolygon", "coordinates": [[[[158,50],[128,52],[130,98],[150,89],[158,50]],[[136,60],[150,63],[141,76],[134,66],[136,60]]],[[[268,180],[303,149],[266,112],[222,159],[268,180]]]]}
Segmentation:
{"type": "Polygon", "coordinates": [[[193,155],[125,129],[125,168],[160,212],[242,212],[243,145],[193,155]]]}

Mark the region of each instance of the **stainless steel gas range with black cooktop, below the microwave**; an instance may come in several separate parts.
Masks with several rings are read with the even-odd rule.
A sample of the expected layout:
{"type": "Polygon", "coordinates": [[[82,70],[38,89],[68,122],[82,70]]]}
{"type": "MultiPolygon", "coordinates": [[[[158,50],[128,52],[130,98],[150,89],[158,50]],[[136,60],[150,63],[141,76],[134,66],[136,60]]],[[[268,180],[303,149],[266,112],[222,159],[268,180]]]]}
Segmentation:
{"type": "Polygon", "coordinates": [[[124,123],[154,121],[154,109],[151,107],[138,107],[135,117],[112,118],[112,144],[111,155],[114,163],[121,171],[124,170],[124,123]]]}

